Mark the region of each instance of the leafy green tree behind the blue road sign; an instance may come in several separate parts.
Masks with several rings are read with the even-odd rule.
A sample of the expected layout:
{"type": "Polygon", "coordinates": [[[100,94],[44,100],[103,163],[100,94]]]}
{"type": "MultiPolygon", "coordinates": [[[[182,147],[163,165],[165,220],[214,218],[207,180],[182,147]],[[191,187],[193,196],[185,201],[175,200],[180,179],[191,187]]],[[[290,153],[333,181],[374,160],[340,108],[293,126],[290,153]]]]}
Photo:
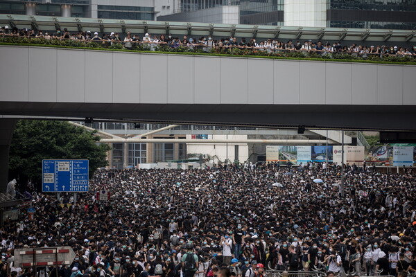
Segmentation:
{"type": "Polygon", "coordinates": [[[66,121],[19,120],[10,145],[10,177],[24,185],[31,179],[42,184],[43,159],[88,159],[89,176],[107,166],[110,147],[82,127],[66,121]]]}

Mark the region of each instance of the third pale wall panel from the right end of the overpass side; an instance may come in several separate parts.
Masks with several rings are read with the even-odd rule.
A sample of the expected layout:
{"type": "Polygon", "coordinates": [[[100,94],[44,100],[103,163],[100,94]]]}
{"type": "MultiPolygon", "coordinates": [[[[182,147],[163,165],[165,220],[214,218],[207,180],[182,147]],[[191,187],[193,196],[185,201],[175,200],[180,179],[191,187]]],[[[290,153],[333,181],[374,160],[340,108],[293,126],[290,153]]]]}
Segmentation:
{"type": "Polygon", "coordinates": [[[352,105],[376,105],[377,69],[374,64],[352,64],[352,105]]]}

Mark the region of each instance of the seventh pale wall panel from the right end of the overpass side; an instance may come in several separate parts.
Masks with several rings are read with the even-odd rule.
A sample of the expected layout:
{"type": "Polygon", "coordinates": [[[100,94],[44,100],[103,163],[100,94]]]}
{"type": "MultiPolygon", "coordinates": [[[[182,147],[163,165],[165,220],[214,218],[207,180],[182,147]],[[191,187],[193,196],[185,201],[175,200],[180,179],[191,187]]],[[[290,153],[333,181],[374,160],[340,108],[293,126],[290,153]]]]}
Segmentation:
{"type": "Polygon", "coordinates": [[[273,103],[273,60],[248,59],[248,103],[273,103]]]}

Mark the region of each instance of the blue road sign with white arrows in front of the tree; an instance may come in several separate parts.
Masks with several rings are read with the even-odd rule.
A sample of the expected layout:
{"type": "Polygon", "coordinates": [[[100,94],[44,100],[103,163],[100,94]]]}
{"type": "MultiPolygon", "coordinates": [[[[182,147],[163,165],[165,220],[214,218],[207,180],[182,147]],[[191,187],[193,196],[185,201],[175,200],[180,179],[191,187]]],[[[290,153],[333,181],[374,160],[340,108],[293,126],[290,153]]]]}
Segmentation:
{"type": "Polygon", "coordinates": [[[44,193],[86,193],[88,180],[88,160],[42,161],[44,193]]]}

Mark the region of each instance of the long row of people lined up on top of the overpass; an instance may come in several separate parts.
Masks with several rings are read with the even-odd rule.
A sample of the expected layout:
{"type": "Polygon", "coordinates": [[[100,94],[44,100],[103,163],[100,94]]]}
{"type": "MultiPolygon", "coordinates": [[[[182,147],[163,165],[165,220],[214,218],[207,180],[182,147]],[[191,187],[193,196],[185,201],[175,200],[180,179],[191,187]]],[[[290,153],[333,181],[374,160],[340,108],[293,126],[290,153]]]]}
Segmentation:
{"type": "Polygon", "coordinates": [[[42,39],[67,39],[76,42],[94,42],[103,47],[120,46],[125,49],[134,49],[137,47],[144,48],[150,51],[159,50],[162,46],[167,48],[187,48],[188,51],[203,51],[212,52],[214,49],[243,49],[250,50],[252,53],[302,53],[309,55],[315,53],[326,57],[332,57],[335,54],[351,55],[352,57],[361,57],[364,60],[368,57],[416,57],[416,46],[413,48],[406,48],[402,46],[365,46],[352,44],[350,46],[343,45],[342,42],[313,42],[300,40],[287,42],[279,41],[278,39],[237,39],[236,37],[227,37],[215,39],[209,37],[192,38],[184,35],[182,38],[174,37],[173,35],[150,35],[146,33],[143,37],[137,34],[127,32],[125,37],[121,37],[119,33],[102,33],[98,32],[78,32],[71,33],[67,28],[63,31],[60,29],[49,33],[42,30],[28,30],[13,28],[10,30],[8,26],[3,26],[0,29],[0,36],[12,37],[29,37],[42,39]]]}

